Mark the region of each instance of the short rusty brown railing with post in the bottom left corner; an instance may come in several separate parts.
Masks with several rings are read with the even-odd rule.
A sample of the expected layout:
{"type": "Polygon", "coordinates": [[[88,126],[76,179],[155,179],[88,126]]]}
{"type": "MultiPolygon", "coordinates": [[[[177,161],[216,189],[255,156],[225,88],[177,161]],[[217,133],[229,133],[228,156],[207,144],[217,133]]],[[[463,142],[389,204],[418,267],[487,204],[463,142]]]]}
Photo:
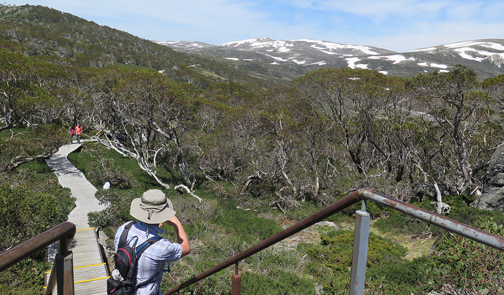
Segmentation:
{"type": "Polygon", "coordinates": [[[59,240],[45,294],[52,294],[57,280],[58,294],[74,295],[73,254],[69,249],[75,232],[76,227],[73,223],[64,222],[3,252],[0,254],[0,272],[59,240]]]}

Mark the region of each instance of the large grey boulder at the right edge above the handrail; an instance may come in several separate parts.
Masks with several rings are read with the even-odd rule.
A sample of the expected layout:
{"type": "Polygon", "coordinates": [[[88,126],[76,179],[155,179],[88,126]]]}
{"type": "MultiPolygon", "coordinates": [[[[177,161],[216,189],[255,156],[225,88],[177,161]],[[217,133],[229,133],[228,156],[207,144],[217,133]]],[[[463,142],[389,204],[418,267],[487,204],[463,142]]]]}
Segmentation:
{"type": "Polygon", "coordinates": [[[504,145],[500,145],[490,157],[487,179],[478,209],[504,212],[504,145]]]}

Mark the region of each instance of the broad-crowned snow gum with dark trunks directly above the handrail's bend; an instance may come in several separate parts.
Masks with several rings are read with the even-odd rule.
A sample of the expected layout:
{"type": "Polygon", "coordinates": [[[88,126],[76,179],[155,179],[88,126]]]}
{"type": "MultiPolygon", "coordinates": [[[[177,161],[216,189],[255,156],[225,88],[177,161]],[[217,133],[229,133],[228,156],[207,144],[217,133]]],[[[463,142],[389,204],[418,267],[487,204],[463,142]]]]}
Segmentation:
{"type": "MultiPolygon", "coordinates": [[[[400,148],[389,137],[393,125],[385,123],[409,115],[402,80],[376,71],[333,68],[312,71],[293,83],[335,124],[340,131],[337,144],[347,151],[358,173],[382,165],[392,171],[390,156],[400,148]]],[[[398,168],[399,180],[402,170],[398,168]]]]}

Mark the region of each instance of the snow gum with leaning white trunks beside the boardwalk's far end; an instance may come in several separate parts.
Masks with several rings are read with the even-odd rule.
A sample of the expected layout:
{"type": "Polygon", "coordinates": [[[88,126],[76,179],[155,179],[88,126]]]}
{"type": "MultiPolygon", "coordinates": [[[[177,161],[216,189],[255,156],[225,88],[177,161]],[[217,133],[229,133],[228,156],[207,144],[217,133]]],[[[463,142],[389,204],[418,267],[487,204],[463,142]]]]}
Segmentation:
{"type": "Polygon", "coordinates": [[[104,82],[107,99],[98,105],[108,134],[97,139],[136,159],[144,171],[166,188],[170,186],[157,176],[158,164],[166,159],[165,155],[174,154],[182,188],[191,193],[192,183],[180,143],[180,133],[184,132],[184,123],[191,114],[191,105],[183,91],[164,75],[148,70],[120,73],[104,82]]]}

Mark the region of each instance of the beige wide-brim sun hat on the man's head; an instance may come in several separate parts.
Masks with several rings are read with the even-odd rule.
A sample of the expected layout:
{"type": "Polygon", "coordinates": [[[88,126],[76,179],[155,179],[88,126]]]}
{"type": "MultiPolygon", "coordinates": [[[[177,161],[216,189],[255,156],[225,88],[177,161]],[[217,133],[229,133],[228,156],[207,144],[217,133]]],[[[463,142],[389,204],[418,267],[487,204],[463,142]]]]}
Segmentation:
{"type": "Polygon", "coordinates": [[[131,202],[130,215],[149,224],[167,221],[176,214],[173,204],[159,189],[149,189],[131,202]]]}

